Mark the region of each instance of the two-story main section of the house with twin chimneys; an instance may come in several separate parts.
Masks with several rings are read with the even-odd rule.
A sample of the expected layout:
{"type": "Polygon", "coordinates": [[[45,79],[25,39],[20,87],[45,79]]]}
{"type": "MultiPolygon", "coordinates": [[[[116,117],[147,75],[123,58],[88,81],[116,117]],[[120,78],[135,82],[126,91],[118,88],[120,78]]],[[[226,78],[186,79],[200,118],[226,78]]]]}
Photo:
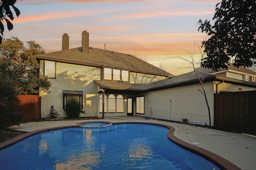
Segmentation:
{"type": "MultiPolygon", "coordinates": [[[[97,80],[111,84],[120,82],[123,85],[115,87],[118,89],[127,84],[148,84],[173,76],[133,55],[109,51],[106,46],[105,49],[90,47],[87,31],[82,32],[82,47],[69,49],[69,36],[65,33],[62,35],[62,51],[37,55],[36,59],[40,62],[41,74],[52,82],[50,93],[40,92],[42,117],[49,117],[52,105],[62,117],[66,117],[65,104],[70,98],[81,102],[86,111],[86,115],[81,116],[101,117],[102,94],[98,93],[97,80]]],[[[122,90],[115,94],[106,91],[104,112],[133,115],[133,109],[126,101],[130,104],[130,99],[138,94],[139,90],[135,94],[124,94],[122,90]]]]}

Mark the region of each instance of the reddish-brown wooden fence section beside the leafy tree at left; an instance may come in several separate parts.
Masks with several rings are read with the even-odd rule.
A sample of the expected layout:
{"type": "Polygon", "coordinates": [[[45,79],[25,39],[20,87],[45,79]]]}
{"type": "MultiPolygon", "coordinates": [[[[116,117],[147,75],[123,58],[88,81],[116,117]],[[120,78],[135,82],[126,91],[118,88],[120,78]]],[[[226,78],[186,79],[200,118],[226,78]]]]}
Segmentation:
{"type": "Polygon", "coordinates": [[[41,118],[41,96],[18,95],[18,111],[22,113],[24,121],[36,121],[41,118]]]}

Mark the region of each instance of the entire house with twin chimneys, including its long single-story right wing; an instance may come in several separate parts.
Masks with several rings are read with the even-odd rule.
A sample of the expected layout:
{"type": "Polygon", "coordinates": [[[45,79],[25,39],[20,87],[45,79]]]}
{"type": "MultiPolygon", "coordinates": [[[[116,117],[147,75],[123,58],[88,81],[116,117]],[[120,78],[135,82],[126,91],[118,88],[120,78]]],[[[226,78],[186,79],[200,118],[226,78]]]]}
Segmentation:
{"type": "MultiPolygon", "coordinates": [[[[62,51],[36,56],[41,74],[52,82],[51,93],[40,92],[42,117],[49,117],[52,105],[66,117],[66,102],[77,98],[86,111],[81,116],[140,115],[172,121],[186,118],[209,125],[208,108],[195,72],[174,76],[130,54],[90,47],[86,31],[82,32],[82,47],[68,49],[68,39],[67,34],[62,36],[62,51]]],[[[212,125],[215,93],[256,90],[255,83],[230,77],[230,70],[223,71],[226,76],[196,69],[204,78],[212,125]]],[[[246,75],[254,80],[254,72],[246,75]]]]}

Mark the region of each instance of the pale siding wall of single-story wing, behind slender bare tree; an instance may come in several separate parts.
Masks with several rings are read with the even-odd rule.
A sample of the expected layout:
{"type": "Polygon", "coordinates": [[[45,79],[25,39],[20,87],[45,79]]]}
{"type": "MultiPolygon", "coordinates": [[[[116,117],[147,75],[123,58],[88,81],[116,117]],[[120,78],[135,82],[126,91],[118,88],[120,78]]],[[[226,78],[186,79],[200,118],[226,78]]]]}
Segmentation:
{"type": "MultiPolygon", "coordinates": [[[[213,122],[213,83],[204,83],[204,88],[210,106],[211,122],[213,122]]],[[[200,84],[192,84],[146,93],[145,116],[150,117],[152,107],[153,118],[172,121],[188,119],[203,121],[209,125],[206,101],[198,89],[202,90],[200,84]]]]}

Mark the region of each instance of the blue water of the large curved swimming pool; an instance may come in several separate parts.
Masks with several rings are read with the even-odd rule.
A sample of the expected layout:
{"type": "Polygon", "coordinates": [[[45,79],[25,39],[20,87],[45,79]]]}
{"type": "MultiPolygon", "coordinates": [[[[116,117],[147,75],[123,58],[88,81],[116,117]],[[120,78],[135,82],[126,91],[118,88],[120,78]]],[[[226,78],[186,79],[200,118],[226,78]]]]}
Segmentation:
{"type": "Polygon", "coordinates": [[[0,151],[4,170],[219,170],[172,143],[169,129],[146,124],[68,128],[29,137],[0,151]]]}

